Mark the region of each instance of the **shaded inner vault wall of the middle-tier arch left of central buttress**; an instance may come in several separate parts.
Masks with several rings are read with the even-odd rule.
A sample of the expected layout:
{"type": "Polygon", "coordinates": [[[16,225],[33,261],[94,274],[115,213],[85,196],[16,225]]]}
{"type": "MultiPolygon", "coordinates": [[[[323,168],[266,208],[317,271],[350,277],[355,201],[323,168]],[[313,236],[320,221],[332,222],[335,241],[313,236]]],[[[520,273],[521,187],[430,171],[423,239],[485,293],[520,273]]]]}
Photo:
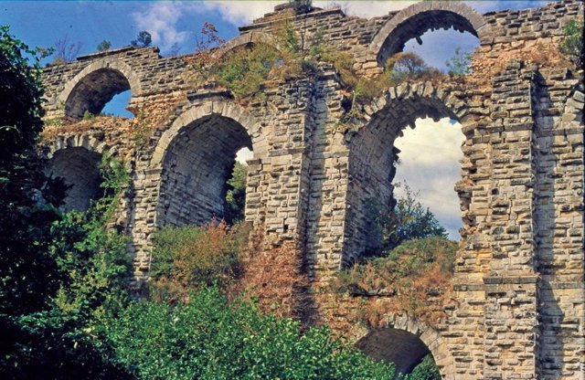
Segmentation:
{"type": "Polygon", "coordinates": [[[237,121],[210,116],[187,125],[163,162],[160,226],[203,224],[224,217],[227,181],[241,148],[251,149],[237,121]]]}

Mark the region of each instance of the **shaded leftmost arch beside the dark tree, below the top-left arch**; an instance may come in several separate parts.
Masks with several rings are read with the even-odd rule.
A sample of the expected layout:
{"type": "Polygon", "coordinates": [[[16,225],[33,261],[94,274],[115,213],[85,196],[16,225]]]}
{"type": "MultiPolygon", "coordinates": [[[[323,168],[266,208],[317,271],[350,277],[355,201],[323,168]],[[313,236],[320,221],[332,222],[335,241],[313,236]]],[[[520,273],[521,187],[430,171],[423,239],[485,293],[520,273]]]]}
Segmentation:
{"type": "Polygon", "coordinates": [[[61,208],[85,211],[91,200],[103,195],[100,163],[106,151],[110,149],[105,142],[83,134],[60,137],[45,147],[48,159],[45,174],[51,178],[61,177],[69,186],[61,208]]]}

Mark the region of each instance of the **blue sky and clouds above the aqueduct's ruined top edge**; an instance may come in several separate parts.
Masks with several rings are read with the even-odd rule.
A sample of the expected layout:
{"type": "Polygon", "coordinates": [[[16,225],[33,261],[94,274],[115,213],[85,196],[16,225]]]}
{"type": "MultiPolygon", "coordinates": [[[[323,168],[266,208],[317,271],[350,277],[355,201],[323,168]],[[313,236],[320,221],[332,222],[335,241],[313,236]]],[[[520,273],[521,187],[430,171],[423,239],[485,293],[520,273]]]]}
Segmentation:
{"type": "MultiPolygon", "coordinates": [[[[270,12],[275,1],[0,1],[0,24],[8,24],[16,37],[30,46],[48,47],[68,37],[81,42],[80,54],[95,51],[103,39],[113,47],[123,47],[139,31],[153,34],[154,45],[165,54],[177,43],[181,53],[193,51],[198,31],[209,21],[221,37],[238,35],[237,26],[270,12]]],[[[382,16],[390,10],[413,4],[409,1],[316,1],[315,5],[341,5],[356,16],[382,16]]],[[[524,8],[546,4],[543,1],[467,2],[480,12],[504,8],[524,8]]],[[[463,35],[462,35],[463,36],[463,35]]],[[[444,40],[443,40],[444,41],[444,40]]],[[[426,41],[425,41],[426,42],[426,41]]],[[[459,42],[459,41],[450,41],[459,42]]],[[[429,48],[436,44],[424,44],[429,48]]]]}

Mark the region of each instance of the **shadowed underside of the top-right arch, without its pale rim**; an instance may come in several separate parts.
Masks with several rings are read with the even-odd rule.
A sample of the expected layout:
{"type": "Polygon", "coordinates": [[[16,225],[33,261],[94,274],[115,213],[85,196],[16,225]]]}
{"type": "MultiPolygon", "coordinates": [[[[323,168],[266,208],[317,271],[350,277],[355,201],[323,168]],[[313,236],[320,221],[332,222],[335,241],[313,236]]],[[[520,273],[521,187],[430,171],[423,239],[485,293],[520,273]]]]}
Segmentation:
{"type": "Polygon", "coordinates": [[[477,32],[473,25],[461,15],[445,10],[421,12],[400,23],[386,37],[378,52],[378,62],[384,65],[388,58],[404,50],[406,43],[410,39],[417,38],[420,41],[420,36],[428,30],[441,28],[448,30],[451,27],[462,33],[469,32],[477,37],[477,32]]]}

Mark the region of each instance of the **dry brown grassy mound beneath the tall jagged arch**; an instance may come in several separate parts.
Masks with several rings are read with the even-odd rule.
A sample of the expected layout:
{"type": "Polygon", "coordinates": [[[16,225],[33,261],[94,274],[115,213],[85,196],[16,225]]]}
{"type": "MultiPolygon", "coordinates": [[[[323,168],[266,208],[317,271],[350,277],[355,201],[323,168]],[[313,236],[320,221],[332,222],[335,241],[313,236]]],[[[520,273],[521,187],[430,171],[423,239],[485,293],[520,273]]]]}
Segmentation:
{"type": "Polygon", "coordinates": [[[446,316],[444,306],[452,297],[455,250],[456,244],[440,238],[421,239],[393,251],[394,257],[391,253],[340,273],[331,288],[360,304],[349,308],[350,320],[378,327],[388,314],[406,312],[432,325],[446,316]]]}

